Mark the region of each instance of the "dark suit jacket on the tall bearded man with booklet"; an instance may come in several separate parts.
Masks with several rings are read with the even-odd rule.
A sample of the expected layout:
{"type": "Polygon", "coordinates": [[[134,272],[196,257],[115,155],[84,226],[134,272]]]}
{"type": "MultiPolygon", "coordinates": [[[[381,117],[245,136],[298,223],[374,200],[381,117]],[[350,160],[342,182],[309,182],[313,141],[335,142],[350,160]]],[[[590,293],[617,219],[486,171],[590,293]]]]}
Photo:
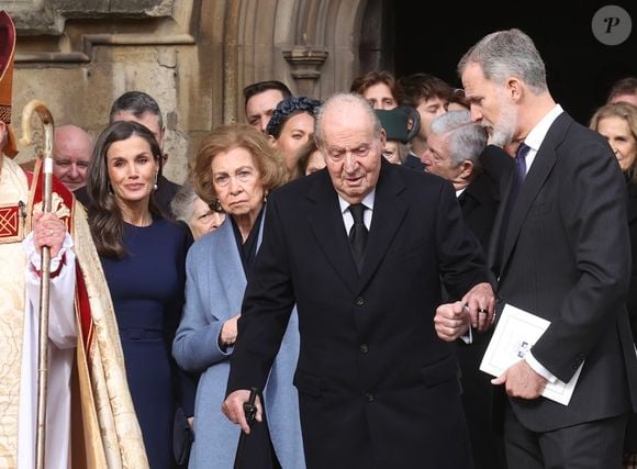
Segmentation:
{"type": "Polygon", "coordinates": [[[499,309],[511,303],[551,322],[533,347],[545,368],[566,382],[584,361],[568,406],[511,399],[534,432],[619,415],[637,402],[637,360],[624,306],[630,275],[625,197],[607,143],[562,113],[513,208],[498,286],[499,309]]]}

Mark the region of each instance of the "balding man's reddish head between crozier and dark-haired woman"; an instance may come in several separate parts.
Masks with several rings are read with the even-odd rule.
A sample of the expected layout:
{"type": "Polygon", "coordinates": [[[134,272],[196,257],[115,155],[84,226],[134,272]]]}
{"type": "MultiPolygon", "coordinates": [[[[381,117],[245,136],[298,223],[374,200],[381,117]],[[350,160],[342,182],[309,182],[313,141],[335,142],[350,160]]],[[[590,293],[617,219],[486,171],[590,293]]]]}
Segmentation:
{"type": "Polygon", "coordinates": [[[86,186],[86,175],[93,152],[90,135],[77,125],[62,125],[53,139],[53,174],[68,190],[86,186]]]}

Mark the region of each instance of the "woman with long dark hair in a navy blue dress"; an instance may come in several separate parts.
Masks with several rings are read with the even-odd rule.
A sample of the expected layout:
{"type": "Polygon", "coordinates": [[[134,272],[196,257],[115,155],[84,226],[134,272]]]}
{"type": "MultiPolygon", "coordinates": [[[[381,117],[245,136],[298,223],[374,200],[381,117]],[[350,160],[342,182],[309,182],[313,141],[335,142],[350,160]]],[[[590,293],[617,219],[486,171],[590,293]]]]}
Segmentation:
{"type": "Polygon", "coordinates": [[[150,468],[170,468],[176,403],[192,415],[191,383],[171,358],[183,304],[188,237],[153,200],[161,174],[155,137],[115,122],[89,166],[89,224],[113,300],[126,377],[150,468]]]}

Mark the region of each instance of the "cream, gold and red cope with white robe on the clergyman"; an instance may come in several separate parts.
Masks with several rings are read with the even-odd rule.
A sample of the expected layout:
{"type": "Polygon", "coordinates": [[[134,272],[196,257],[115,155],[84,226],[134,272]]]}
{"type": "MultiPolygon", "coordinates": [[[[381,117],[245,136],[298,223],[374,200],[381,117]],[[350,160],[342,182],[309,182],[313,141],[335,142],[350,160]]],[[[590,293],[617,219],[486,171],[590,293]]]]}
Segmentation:
{"type": "MultiPolygon", "coordinates": [[[[32,469],[40,256],[27,235],[31,215],[42,204],[42,178],[40,161],[32,183],[1,154],[0,165],[0,469],[32,469]]],[[[118,323],[86,212],[55,178],[53,187],[52,211],[65,222],[72,242],[67,234],[51,266],[55,275],[49,287],[45,466],[148,468],[118,323]]]]}

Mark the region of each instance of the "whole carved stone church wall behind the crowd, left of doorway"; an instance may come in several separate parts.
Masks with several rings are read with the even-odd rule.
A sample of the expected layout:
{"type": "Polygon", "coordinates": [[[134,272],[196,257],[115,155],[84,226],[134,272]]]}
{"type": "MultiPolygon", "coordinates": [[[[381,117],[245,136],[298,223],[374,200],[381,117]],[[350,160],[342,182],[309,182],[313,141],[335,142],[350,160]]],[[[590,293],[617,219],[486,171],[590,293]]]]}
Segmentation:
{"type": "MultiPolygon", "coordinates": [[[[201,137],[244,121],[246,85],[279,79],[325,98],[358,72],[365,0],[4,0],[18,29],[14,122],[43,100],[94,136],[111,103],[152,94],[167,126],[166,175],[187,177],[201,137]]],[[[21,148],[20,160],[33,157],[21,148]]]]}

